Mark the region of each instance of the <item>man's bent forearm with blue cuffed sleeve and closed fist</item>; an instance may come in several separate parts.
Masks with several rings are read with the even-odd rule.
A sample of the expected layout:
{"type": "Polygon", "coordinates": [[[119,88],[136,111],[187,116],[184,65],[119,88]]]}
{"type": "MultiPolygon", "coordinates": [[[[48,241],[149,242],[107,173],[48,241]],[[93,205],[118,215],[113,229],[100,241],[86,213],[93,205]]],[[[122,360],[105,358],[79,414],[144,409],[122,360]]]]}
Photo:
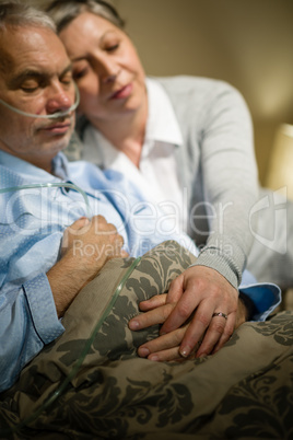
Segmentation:
{"type": "Polygon", "coordinates": [[[23,367],[46,344],[63,333],[59,319],[106,260],[126,256],[122,243],[116,228],[103,217],[92,221],[82,218],[66,230],[61,258],[47,275],[38,274],[22,286],[11,282],[1,288],[0,392],[15,382],[23,367]]]}

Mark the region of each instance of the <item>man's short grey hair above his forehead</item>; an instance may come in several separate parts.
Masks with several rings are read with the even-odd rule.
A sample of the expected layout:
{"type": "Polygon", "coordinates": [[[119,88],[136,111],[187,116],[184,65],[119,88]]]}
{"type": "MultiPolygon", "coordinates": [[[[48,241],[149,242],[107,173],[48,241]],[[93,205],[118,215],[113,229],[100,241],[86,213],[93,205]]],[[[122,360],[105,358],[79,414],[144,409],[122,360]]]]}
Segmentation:
{"type": "Polygon", "coordinates": [[[56,33],[56,25],[45,12],[17,0],[0,0],[0,31],[7,26],[47,27],[56,33]]]}

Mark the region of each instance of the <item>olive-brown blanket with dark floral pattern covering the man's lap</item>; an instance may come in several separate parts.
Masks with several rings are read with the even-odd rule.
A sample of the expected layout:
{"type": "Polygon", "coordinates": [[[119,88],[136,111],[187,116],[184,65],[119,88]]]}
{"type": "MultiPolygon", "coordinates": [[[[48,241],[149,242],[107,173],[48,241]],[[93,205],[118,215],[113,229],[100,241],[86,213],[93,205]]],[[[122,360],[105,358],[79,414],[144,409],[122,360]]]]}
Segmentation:
{"type": "Polygon", "coordinates": [[[113,259],[77,297],[66,332],[0,395],[2,439],[293,439],[293,314],[243,324],[213,356],[151,362],[130,332],[138,302],[195,257],[166,242],[113,259]]]}

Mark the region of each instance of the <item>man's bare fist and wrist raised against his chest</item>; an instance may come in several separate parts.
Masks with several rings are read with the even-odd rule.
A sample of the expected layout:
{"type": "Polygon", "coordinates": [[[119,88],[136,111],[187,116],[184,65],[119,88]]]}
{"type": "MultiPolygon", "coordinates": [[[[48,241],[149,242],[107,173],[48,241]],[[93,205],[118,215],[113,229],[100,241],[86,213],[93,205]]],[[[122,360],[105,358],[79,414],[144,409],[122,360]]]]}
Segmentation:
{"type": "Polygon", "coordinates": [[[122,245],[122,236],[102,216],[81,218],[65,231],[61,259],[47,273],[59,317],[108,259],[127,256],[122,245]]]}

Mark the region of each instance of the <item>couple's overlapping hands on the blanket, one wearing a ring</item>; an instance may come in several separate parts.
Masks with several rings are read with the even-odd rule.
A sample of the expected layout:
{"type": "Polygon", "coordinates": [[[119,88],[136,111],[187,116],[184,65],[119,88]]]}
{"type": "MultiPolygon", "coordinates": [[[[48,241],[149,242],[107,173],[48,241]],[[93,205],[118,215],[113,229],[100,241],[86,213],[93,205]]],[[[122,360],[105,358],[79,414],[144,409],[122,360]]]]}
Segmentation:
{"type": "Polygon", "coordinates": [[[131,329],[163,326],[161,336],[139,348],[139,356],[160,361],[215,352],[246,320],[237,290],[204,266],[188,268],[171,283],[167,294],[141,302],[140,309],[146,313],[129,322],[131,329]],[[226,319],[213,316],[219,312],[226,319]]]}

